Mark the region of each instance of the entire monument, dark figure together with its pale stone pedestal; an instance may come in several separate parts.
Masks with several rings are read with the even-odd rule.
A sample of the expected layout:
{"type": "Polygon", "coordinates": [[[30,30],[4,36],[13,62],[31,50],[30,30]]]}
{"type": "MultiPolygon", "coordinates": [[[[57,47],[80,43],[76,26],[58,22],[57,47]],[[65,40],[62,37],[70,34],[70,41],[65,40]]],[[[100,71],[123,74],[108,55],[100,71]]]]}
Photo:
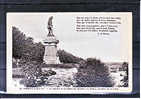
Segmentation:
{"type": "Polygon", "coordinates": [[[44,52],[44,62],[46,64],[58,64],[60,63],[59,57],[57,56],[57,44],[59,40],[56,39],[53,34],[53,25],[52,25],[53,16],[50,16],[47,23],[48,34],[44,40],[45,52],[44,52]]]}

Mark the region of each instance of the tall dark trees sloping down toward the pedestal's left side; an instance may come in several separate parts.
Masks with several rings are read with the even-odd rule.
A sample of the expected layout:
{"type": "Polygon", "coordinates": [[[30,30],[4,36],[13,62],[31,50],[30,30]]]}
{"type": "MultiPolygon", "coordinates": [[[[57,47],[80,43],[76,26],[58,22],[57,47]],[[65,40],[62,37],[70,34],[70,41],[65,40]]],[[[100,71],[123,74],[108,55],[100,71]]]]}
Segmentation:
{"type": "Polygon", "coordinates": [[[13,57],[26,61],[43,61],[44,46],[34,43],[33,38],[26,37],[18,28],[12,27],[13,57]]]}

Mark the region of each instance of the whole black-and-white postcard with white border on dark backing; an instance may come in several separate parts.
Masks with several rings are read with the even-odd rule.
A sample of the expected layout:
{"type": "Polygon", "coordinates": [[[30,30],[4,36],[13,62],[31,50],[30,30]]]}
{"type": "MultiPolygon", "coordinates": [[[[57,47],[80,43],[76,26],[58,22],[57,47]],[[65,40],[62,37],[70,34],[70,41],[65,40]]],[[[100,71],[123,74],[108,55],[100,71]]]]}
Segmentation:
{"type": "Polygon", "coordinates": [[[9,93],[132,91],[132,13],[7,13],[9,93]]]}

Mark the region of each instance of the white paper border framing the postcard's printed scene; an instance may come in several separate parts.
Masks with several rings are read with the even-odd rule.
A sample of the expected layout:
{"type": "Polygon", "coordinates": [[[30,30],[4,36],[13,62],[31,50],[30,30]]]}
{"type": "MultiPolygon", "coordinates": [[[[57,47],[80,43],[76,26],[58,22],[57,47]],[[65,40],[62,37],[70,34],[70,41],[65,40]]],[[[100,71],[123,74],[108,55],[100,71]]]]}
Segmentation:
{"type": "MultiPolygon", "coordinates": [[[[62,13],[62,12],[61,12],[62,13]]],[[[66,13],[66,12],[63,12],[66,13]]],[[[81,12],[75,12],[80,13],[81,12]]],[[[69,12],[69,14],[75,14],[74,12],[69,12]]],[[[130,93],[132,91],[132,12],[83,12],[83,13],[102,13],[102,14],[114,14],[114,13],[121,13],[128,15],[128,52],[129,52],[129,87],[78,87],[70,90],[68,88],[28,88],[28,90],[23,89],[19,90],[19,88],[15,88],[12,86],[12,27],[7,28],[7,36],[6,36],[6,65],[7,65],[7,93],[9,94],[102,94],[102,93],[130,93]],[[11,33],[8,33],[11,31],[11,33]],[[84,90],[83,90],[84,88],[84,90]],[[37,90],[38,89],[38,90],[37,90]],[[56,89],[56,90],[55,90],[56,89]],[[63,89],[63,90],[62,90],[63,89]],[[77,89],[77,90],[75,90],[77,89]],[[90,90],[94,89],[94,90],[90,90]]],[[[82,14],[83,14],[82,13],[82,14]]],[[[7,13],[8,14],[8,13],[7,13]]],[[[8,21],[7,21],[8,25],[8,21]]]]}

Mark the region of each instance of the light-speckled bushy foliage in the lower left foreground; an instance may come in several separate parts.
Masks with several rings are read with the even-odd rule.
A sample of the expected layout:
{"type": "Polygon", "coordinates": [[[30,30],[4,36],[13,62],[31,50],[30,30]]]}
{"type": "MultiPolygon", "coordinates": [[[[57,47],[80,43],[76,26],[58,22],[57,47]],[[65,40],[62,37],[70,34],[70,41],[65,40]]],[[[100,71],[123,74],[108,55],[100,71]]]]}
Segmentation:
{"type": "Polygon", "coordinates": [[[36,61],[20,63],[22,65],[22,72],[25,77],[21,80],[21,84],[26,87],[38,87],[47,84],[48,77],[56,75],[55,71],[42,71],[41,66],[36,61]]]}

